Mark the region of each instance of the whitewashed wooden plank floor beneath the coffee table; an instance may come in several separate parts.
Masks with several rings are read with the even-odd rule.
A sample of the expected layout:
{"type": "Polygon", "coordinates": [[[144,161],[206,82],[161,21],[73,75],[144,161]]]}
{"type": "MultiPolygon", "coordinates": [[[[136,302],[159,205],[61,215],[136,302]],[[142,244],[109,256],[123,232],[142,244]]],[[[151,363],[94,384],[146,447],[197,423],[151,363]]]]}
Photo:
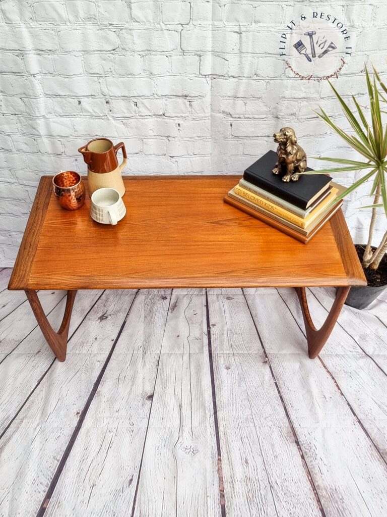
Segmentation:
{"type": "Polygon", "coordinates": [[[82,291],[60,363],[9,275],[2,517],[387,515],[387,295],[312,361],[293,290],[82,291]]]}

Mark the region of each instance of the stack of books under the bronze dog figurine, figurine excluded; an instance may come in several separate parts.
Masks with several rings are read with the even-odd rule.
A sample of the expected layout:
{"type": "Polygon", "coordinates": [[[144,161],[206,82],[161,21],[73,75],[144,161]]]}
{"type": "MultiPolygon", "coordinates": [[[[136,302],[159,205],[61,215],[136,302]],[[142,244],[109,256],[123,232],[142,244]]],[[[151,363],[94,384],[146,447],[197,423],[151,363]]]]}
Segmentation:
{"type": "Polygon", "coordinates": [[[342,202],[332,202],[344,187],[320,174],[286,183],[272,173],[276,161],[277,154],[268,151],[246,169],[224,201],[306,244],[340,208],[342,202]]]}

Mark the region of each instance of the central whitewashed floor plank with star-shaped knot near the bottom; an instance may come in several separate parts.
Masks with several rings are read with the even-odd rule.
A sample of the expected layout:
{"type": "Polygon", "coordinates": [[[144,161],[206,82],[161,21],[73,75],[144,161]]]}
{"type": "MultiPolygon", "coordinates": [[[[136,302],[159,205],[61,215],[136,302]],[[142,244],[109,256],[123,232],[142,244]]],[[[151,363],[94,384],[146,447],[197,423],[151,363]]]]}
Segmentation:
{"type": "Polygon", "coordinates": [[[205,332],[204,291],[174,290],[135,515],[221,514],[205,332]]]}

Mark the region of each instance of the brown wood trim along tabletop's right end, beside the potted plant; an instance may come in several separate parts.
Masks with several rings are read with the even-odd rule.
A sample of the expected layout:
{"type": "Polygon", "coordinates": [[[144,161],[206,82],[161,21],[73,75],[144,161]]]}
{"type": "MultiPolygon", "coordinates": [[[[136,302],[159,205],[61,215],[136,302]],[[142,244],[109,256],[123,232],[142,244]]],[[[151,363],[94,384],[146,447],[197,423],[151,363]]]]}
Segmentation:
{"type": "Polygon", "coordinates": [[[343,260],[348,285],[367,285],[362,265],[349,234],[342,209],[337,210],[331,219],[331,228],[337,249],[343,260]]]}

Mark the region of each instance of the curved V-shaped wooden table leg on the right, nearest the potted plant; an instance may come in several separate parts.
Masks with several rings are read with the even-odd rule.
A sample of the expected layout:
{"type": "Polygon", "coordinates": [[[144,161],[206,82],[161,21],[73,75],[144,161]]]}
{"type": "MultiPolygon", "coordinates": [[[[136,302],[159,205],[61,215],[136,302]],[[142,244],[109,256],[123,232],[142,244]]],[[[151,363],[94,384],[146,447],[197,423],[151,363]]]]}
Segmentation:
{"type": "Polygon", "coordinates": [[[305,293],[305,287],[296,287],[298,299],[300,300],[300,305],[302,309],[302,315],[304,318],[305,324],[305,332],[307,334],[308,341],[308,352],[309,357],[314,359],[319,354],[321,348],[327,342],[327,339],[330,336],[330,333],[333,330],[333,327],[337,321],[338,315],[341,312],[341,309],[344,305],[344,302],[347,298],[349,287],[338,287],[336,298],[334,299],[333,305],[327,319],[318,330],[313,325],[312,317],[309,312],[307,293],[305,293]]]}

